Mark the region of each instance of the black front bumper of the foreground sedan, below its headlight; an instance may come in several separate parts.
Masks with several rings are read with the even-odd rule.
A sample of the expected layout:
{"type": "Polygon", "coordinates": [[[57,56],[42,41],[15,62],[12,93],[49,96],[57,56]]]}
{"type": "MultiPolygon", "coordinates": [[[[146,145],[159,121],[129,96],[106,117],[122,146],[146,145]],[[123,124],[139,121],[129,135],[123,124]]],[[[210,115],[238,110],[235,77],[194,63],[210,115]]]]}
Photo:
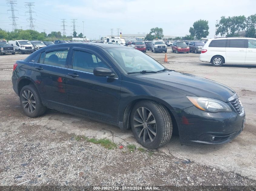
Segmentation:
{"type": "Polygon", "coordinates": [[[223,144],[238,136],[244,128],[245,114],[240,116],[228,105],[232,112],[208,113],[194,106],[176,111],[181,142],[223,144]]]}

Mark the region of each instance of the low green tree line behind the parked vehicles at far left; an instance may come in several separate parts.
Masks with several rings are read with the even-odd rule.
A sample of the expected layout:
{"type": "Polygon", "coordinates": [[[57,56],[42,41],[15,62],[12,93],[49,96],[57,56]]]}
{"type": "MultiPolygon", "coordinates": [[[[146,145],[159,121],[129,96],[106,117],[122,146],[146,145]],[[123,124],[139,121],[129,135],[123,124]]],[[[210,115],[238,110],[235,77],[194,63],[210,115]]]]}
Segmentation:
{"type": "Polygon", "coordinates": [[[85,36],[80,33],[77,36],[76,31],[74,31],[73,36],[62,36],[62,33],[60,31],[52,31],[49,34],[46,34],[45,32],[38,32],[35,30],[22,30],[22,29],[16,29],[14,31],[6,31],[2,30],[0,28],[0,39],[5,39],[5,40],[41,40],[41,41],[46,41],[46,40],[56,40],[56,39],[71,39],[72,37],[79,37],[79,38],[85,38],[85,36]]]}

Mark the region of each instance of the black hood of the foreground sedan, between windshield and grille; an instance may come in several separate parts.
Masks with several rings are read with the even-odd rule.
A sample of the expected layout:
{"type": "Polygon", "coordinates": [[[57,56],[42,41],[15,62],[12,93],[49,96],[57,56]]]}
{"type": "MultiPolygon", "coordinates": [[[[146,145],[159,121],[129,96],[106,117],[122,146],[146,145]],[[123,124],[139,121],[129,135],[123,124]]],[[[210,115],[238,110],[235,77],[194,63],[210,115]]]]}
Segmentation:
{"type": "Polygon", "coordinates": [[[235,91],[216,81],[176,71],[139,75],[138,78],[165,84],[200,97],[228,102],[235,91]]]}

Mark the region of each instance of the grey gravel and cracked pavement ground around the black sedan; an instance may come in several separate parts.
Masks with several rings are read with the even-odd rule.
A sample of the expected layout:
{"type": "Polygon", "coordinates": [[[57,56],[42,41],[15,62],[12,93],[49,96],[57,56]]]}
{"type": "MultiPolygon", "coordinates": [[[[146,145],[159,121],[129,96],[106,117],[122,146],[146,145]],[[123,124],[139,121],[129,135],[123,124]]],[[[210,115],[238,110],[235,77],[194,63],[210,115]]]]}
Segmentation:
{"type": "Polygon", "coordinates": [[[24,115],[12,89],[12,65],[25,55],[0,57],[0,186],[172,185],[256,186],[256,66],[212,67],[199,54],[148,55],[167,68],[209,78],[238,92],[246,112],[244,131],[224,145],[181,145],[178,136],[146,150],[131,131],[48,110],[24,115]],[[108,138],[124,148],[109,150],[87,138],[108,138]],[[136,148],[129,148],[135,145],[136,148]]]}

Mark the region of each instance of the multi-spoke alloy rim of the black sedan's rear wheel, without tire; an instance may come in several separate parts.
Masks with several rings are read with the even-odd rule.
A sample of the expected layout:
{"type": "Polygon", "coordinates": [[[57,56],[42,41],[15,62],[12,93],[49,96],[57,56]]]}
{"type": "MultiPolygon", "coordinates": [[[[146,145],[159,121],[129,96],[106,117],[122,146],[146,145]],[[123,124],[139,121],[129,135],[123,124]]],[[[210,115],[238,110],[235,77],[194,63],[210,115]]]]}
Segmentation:
{"type": "Polygon", "coordinates": [[[33,113],[35,111],[35,97],[29,90],[24,90],[22,93],[22,106],[24,110],[27,110],[28,113],[33,113]]]}

